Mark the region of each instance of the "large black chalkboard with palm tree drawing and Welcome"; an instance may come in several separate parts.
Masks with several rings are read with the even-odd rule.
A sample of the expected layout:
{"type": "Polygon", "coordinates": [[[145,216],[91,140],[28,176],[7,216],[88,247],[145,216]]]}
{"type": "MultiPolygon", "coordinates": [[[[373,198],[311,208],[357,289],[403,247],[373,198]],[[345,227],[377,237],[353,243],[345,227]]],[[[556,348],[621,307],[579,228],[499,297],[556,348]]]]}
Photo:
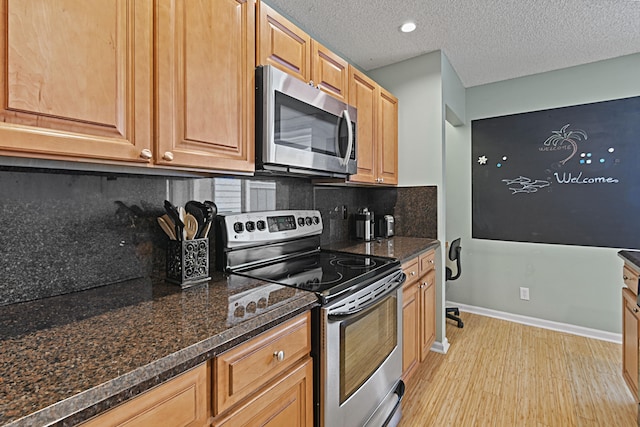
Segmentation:
{"type": "Polygon", "coordinates": [[[471,128],[472,237],[640,249],[640,97],[471,128]]]}

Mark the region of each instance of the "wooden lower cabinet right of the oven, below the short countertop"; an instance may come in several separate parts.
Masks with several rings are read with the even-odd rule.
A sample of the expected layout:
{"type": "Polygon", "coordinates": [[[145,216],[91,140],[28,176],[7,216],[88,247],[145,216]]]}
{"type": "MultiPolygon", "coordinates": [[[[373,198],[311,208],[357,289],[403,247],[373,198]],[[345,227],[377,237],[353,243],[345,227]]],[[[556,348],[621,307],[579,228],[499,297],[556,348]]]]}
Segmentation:
{"type": "Polygon", "coordinates": [[[435,251],[405,262],[402,288],[402,378],[407,380],[424,361],[436,336],[435,251]]]}

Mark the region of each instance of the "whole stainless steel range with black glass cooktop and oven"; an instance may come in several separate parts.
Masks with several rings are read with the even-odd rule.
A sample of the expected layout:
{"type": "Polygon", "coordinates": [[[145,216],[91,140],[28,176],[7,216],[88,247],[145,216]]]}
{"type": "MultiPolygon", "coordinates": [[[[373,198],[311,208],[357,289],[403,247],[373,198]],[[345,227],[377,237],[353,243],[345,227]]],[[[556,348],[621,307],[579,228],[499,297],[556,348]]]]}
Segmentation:
{"type": "Polygon", "coordinates": [[[404,394],[399,261],[321,250],[318,211],[219,218],[221,268],[318,297],[312,312],[315,425],[397,425],[404,394]]]}

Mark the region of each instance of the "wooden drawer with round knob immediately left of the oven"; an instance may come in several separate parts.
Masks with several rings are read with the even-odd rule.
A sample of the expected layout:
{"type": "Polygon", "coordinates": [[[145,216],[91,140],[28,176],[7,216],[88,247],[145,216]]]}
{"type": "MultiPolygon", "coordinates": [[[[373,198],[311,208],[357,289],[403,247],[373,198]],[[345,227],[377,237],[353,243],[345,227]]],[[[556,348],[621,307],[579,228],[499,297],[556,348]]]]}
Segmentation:
{"type": "Polygon", "coordinates": [[[309,355],[310,316],[307,312],[215,358],[216,415],[309,355]]]}

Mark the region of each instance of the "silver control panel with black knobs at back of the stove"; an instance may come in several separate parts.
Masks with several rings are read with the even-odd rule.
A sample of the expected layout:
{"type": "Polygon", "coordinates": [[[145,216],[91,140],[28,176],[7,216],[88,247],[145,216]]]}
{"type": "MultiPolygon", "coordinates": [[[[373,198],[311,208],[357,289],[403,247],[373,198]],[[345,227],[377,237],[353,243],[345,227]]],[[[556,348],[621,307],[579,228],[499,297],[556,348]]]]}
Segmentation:
{"type": "Polygon", "coordinates": [[[322,217],[317,210],[220,214],[218,218],[228,248],[322,233],[322,217]]]}

